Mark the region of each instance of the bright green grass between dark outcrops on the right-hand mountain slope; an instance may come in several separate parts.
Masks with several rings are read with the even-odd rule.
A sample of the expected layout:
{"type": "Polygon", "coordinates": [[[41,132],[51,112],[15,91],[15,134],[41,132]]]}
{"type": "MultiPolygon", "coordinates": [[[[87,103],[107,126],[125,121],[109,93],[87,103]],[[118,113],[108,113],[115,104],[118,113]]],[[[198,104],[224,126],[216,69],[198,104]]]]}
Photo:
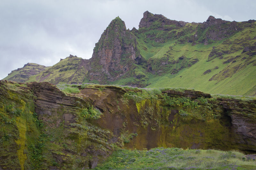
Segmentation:
{"type": "MultiPolygon", "coordinates": [[[[150,43],[151,41],[146,43],[144,41],[144,34],[147,34],[147,32],[138,34],[137,41],[139,43],[140,53],[150,61],[152,69],[156,70],[155,75],[147,75],[149,79],[147,80],[148,86],[146,87],[182,87],[194,88],[208,93],[255,95],[255,56],[249,59],[247,54],[241,54],[244,48],[241,47],[241,44],[250,46],[255,42],[253,40],[256,35],[255,23],[253,25],[254,27],[244,28],[244,30],[228,38],[215,41],[209,45],[199,43],[192,46],[191,43],[179,44],[176,43],[177,40],[170,40],[163,43],[162,46],[153,46],[150,43]],[[220,49],[220,51],[228,50],[230,53],[224,54],[223,59],[215,58],[207,62],[208,55],[212,51],[213,46],[220,49]],[[176,61],[182,55],[186,58],[196,57],[199,61],[191,67],[179,70],[178,73],[173,75],[170,74],[171,69],[180,69],[180,63],[161,65],[161,62],[165,61],[167,56],[169,61],[176,61]],[[224,61],[237,55],[240,55],[240,57],[236,59],[235,63],[223,64],[224,61]],[[246,61],[242,60],[243,57],[247,57],[248,59],[246,61]],[[218,69],[214,69],[216,66],[218,66],[218,69]],[[204,71],[209,69],[211,72],[203,75],[204,71]],[[227,73],[224,73],[224,71],[227,71],[227,73]],[[215,74],[217,76],[212,81],[208,81],[215,74]]],[[[159,30],[156,32],[159,34],[159,30]]],[[[207,30],[204,30],[202,35],[206,32],[207,30]]],[[[124,82],[120,81],[120,84],[122,83],[124,82]]],[[[119,84],[119,82],[116,82],[116,84],[119,84]]]]}

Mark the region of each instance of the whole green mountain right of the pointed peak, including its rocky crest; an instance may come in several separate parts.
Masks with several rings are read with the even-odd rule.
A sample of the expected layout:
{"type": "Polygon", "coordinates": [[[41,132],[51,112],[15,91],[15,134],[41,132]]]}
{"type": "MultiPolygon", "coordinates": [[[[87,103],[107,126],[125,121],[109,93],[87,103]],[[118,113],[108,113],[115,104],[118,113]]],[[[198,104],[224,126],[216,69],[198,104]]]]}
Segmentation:
{"type": "Polygon", "coordinates": [[[139,30],[133,32],[140,54],[147,60],[146,87],[256,95],[253,20],[228,22],[210,16],[205,23],[183,22],[182,27],[178,21],[170,24],[161,15],[145,13],[139,30]],[[148,20],[153,22],[145,24],[148,20]]]}

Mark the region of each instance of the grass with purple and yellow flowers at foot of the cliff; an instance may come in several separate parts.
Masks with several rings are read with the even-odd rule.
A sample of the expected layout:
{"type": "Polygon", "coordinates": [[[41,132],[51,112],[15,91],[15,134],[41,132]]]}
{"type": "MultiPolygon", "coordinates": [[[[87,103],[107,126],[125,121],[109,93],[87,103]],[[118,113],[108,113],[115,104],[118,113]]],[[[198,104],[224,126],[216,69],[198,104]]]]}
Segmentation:
{"type": "Polygon", "coordinates": [[[238,151],[154,148],[149,151],[119,149],[95,170],[107,169],[255,169],[256,161],[238,151]]]}

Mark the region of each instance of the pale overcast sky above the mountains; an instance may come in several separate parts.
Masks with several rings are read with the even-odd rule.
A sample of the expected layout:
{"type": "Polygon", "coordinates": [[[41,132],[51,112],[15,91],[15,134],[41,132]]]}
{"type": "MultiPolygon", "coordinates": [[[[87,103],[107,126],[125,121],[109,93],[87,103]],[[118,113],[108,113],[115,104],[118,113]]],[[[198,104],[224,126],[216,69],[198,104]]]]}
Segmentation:
{"type": "Polygon", "coordinates": [[[132,29],[143,12],[204,22],[256,19],[254,0],[0,0],[0,79],[26,63],[52,66],[69,54],[89,59],[95,43],[119,16],[132,29]]]}

